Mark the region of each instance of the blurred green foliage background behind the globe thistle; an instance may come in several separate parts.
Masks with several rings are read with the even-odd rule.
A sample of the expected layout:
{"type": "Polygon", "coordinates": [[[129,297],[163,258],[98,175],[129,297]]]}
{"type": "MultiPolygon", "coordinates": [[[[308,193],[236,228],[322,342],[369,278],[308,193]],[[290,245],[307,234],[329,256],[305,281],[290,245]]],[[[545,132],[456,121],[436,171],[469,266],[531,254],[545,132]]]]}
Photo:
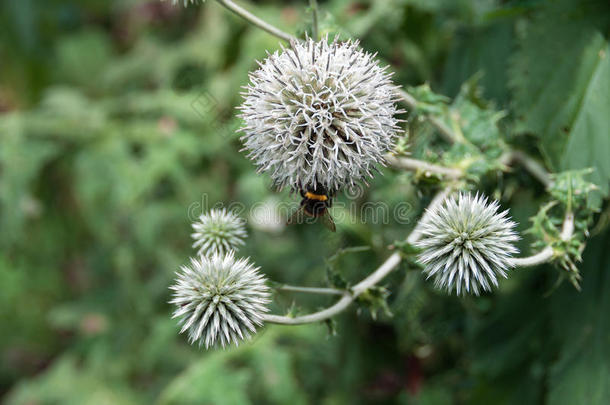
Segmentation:
{"type": "MultiPolygon", "coordinates": [[[[246,6],[304,33],[305,3],[246,6]]],[[[497,175],[506,145],[551,171],[590,167],[608,195],[606,1],[319,4],[324,32],[360,38],[405,88],[428,83],[454,99],[415,91],[433,113],[449,111],[468,143],[443,148],[411,115],[412,153],[452,164],[470,154],[469,175],[511,208],[521,231],[548,196],[523,171],[497,175]]],[[[597,204],[580,292],[555,288],[557,271],[543,266],[514,271],[491,295],[447,297],[405,261],[378,291],[390,293],[390,307],[376,321],[350,310],[331,330],[271,325],[237,349],[189,346],[167,301],[173,272],[192,254],[190,222],[216,203],[239,202],[246,216],[275,195],[239,152],[235,106],[255,60],[278,40],[212,1],[20,0],[0,11],[7,404],[610,403],[607,202],[597,204]]],[[[384,170],[356,203],[393,210],[406,201],[409,224],[345,219],[336,235],[317,225],[250,229],[241,253],[276,281],[356,281],[404,239],[434,187],[384,170]],[[350,246],[368,249],[341,250],[350,246]]],[[[288,293],[275,301],[276,312],[331,302],[288,293]]]]}

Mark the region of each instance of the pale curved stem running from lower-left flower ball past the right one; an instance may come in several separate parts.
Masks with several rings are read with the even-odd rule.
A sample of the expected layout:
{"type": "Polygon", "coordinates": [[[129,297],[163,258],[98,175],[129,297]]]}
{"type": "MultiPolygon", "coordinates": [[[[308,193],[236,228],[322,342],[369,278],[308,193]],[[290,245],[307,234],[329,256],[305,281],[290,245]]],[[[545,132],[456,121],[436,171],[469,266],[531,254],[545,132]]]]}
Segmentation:
{"type": "MultiPolygon", "coordinates": [[[[428,216],[428,212],[433,207],[435,207],[438,204],[440,204],[441,202],[443,202],[443,200],[449,195],[449,193],[451,193],[451,190],[452,190],[451,188],[447,187],[443,191],[439,192],[434,197],[434,199],[432,200],[432,202],[426,209],[426,212],[424,213],[422,218],[419,220],[419,222],[417,223],[417,225],[415,226],[415,228],[413,229],[413,231],[407,238],[407,242],[415,243],[419,240],[419,238],[421,237],[422,224],[426,220],[426,218],[428,216]]],[[[398,253],[398,252],[393,253],[390,257],[388,257],[386,259],[385,262],[383,262],[383,264],[381,266],[379,266],[377,268],[377,270],[375,270],[364,280],[362,280],[361,282],[356,284],[354,287],[352,287],[350,291],[344,292],[341,299],[339,301],[337,301],[334,305],[332,305],[326,309],[323,309],[322,311],[314,312],[309,315],[297,316],[295,318],[291,318],[288,316],[281,316],[281,315],[265,315],[264,321],[269,322],[269,323],[283,324],[283,325],[300,325],[300,324],[304,324],[304,323],[320,322],[320,321],[324,321],[328,318],[331,318],[331,317],[337,315],[338,313],[343,312],[347,307],[350,306],[350,304],[356,298],[358,298],[358,296],[360,294],[365,292],[368,288],[373,287],[379,281],[381,281],[385,276],[390,274],[398,266],[398,264],[401,262],[401,260],[402,260],[402,257],[400,256],[400,253],[398,253]]]]}

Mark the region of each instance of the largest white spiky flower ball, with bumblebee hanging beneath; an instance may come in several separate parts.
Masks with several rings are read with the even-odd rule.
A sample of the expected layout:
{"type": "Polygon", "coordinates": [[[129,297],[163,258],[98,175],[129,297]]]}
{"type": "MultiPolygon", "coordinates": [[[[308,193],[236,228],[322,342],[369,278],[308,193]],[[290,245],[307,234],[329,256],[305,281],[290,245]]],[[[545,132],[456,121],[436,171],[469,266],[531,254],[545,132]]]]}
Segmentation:
{"type": "Polygon", "coordinates": [[[279,189],[331,193],[372,176],[401,132],[397,86],[358,42],[311,39],[268,55],[240,106],[242,140],[279,189]]]}

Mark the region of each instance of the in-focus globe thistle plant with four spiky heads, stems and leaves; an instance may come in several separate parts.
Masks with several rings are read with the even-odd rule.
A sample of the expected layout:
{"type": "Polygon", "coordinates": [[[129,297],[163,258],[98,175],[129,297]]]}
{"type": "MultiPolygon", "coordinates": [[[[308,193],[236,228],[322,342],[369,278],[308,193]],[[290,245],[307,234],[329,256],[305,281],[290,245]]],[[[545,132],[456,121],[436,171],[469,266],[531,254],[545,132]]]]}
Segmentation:
{"type": "MultiPolygon", "coordinates": [[[[288,48],[282,47],[258,63],[239,107],[244,149],[277,189],[320,189],[325,193],[310,192],[307,198],[324,202],[326,194],[366,181],[385,163],[397,170],[424,174],[424,179],[431,180],[424,187],[440,187],[405,240],[393,244],[400,251],[389,255],[360,282],[330,274],[328,287],[273,283],[275,290],[339,297],[327,308],[300,316],[266,313],[270,290],[264,277],[248,259],[235,259],[234,251],[246,237],[241,222],[226,211],[202,216],[193,225],[193,246],[199,249],[199,257],[181,268],[172,286],[171,302],[177,306],[174,317],[180,318],[181,332],[188,331],[191,342],[224,347],[247,338],[263,322],[295,325],[326,321],[356,300],[372,309],[388,308],[385,299],[389,289],[378,283],[416,251],[424,274],[434,279],[434,285],[457,295],[492,291],[498,287],[498,279],[506,278],[516,267],[580,258],[592,212],[588,206],[580,207],[583,213],[577,216],[581,219],[576,226],[575,202],[564,204],[561,219],[542,212],[544,232],[539,232],[543,236],[535,245],[540,250],[518,258],[513,256],[519,237],[508,211],[501,211],[498,202],[482,194],[455,195],[456,190],[475,188],[484,175],[493,178],[514,166],[523,167],[544,187],[557,188],[551,186],[554,177],[542,164],[508,145],[508,137],[503,137],[498,125],[504,114],[481,103],[473,81],[466,83],[449,105],[447,98],[432,93],[429,86],[402,90],[394,85],[388,68],[379,64],[376,54],[361,49],[357,40],[329,41],[326,37],[318,41],[315,1],[310,9],[312,37],[316,39],[293,37],[230,0],[217,2],[289,43],[288,48]],[[440,135],[432,142],[425,141],[430,150],[418,153],[431,161],[403,156],[407,147],[404,139],[397,142],[398,148],[393,146],[404,132],[397,118],[403,112],[398,102],[417,116],[418,123],[434,129],[424,136],[440,135]],[[562,223],[561,232],[558,223],[562,223]],[[551,242],[544,236],[555,234],[551,242]]],[[[590,187],[572,187],[570,180],[569,190],[573,189],[576,196],[591,191],[590,187]]],[[[281,230],[279,227],[278,232],[281,230]]]]}

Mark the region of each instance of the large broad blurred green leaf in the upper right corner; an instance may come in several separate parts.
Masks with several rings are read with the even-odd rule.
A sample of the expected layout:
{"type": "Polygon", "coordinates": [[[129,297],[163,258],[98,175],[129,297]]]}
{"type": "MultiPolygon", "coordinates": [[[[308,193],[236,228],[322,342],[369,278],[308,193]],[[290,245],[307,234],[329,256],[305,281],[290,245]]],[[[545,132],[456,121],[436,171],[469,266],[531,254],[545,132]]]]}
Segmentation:
{"type": "Polygon", "coordinates": [[[510,69],[518,132],[533,133],[554,170],[594,167],[610,182],[610,47],[595,27],[607,4],[549,2],[525,25],[510,69]]]}

